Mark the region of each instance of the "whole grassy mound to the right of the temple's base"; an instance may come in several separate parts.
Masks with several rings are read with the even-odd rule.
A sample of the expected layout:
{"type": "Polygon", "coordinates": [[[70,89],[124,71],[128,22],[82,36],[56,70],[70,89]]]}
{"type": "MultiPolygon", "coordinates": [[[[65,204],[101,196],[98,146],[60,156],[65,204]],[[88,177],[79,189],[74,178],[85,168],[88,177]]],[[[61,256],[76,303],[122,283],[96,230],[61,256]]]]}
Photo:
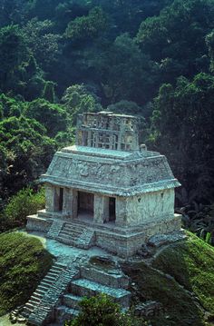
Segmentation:
{"type": "Polygon", "coordinates": [[[151,318],[152,325],[213,325],[214,250],[198,237],[190,235],[187,241],[166,246],[152,265],[126,264],[124,272],[135,283],[136,300],[162,304],[163,311],[151,318]]]}

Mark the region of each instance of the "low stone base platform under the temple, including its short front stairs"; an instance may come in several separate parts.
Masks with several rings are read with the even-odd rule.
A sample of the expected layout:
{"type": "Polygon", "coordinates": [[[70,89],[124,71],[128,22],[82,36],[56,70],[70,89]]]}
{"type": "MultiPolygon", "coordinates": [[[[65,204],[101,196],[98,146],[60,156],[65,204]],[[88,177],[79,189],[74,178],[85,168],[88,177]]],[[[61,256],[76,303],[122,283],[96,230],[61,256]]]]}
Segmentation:
{"type": "Polygon", "coordinates": [[[111,222],[99,224],[83,218],[48,217],[45,212],[39,212],[38,215],[28,217],[26,228],[29,231],[44,232],[47,238],[77,248],[89,249],[97,246],[122,258],[128,258],[135,254],[151,235],[180,230],[180,215],[174,214],[170,219],[124,228],[111,222]]]}

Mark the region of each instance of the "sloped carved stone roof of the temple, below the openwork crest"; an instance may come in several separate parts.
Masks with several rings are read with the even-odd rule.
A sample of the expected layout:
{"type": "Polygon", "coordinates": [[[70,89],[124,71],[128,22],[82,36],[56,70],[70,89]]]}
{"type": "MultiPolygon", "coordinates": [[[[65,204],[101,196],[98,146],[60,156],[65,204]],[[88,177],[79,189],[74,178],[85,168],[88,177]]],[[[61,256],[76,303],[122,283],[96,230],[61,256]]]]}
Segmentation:
{"type": "Polygon", "coordinates": [[[72,146],[55,153],[41,181],[108,195],[132,196],[180,186],[160,153],[72,146]]]}

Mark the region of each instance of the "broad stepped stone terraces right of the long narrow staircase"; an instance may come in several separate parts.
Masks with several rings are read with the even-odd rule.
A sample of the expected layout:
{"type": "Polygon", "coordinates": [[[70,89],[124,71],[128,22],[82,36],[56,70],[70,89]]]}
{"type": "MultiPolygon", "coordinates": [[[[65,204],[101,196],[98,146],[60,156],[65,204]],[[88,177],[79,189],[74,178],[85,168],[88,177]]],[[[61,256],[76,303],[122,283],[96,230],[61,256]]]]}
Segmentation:
{"type": "Polygon", "coordinates": [[[121,271],[107,271],[92,264],[80,268],[81,277],[70,283],[69,291],[63,294],[61,304],[56,309],[55,320],[59,325],[72,320],[79,313],[78,303],[83,297],[105,293],[119,302],[123,308],[130,304],[129,278],[121,271]]]}

